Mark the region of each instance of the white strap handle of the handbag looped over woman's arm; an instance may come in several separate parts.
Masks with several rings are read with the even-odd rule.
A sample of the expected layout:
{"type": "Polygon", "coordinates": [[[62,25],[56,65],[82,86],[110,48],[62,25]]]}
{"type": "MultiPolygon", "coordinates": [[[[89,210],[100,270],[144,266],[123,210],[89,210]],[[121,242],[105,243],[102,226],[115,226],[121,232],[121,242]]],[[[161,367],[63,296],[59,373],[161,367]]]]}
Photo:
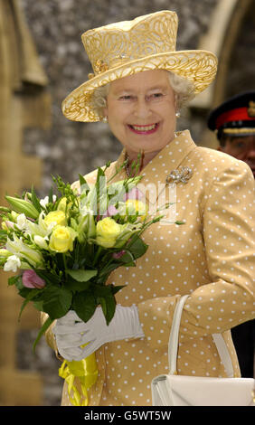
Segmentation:
{"type": "MultiPolygon", "coordinates": [[[[181,297],[178,300],[175,307],[175,313],[173,317],[173,323],[172,323],[172,328],[171,328],[169,343],[168,343],[168,364],[169,364],[170,374],[177,374],[177,352],[178,352],[178,345],[179,345],[179,330],[180,330],[180,323],[181,323],[184,303],[187,297],[190,297],[190,296],[184,295],[183,297],[181,297]]],[[[231,356],[229,354],[227,345],[221,334],[213,334],[212,336],[213,336],[214,344],[216,345],[216,348],[222,360],[222,364],[225,367],[226,373],[228,377],[232,378],[233,367],[232,367],[231,356]]]]}

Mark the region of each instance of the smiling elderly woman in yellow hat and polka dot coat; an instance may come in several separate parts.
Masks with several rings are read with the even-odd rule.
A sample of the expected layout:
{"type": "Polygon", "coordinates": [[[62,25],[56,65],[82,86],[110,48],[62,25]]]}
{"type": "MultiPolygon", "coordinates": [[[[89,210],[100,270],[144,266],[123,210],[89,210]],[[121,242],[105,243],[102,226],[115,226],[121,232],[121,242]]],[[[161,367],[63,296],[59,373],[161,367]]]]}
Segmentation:
{"type": "MultiPolygon", "coordinates": [[[[143,152],[144,184],[155,184],[159,196],[174,181],[176,216],[184,222],[153,224],[143,235],[149,248],[137,267],[112,272],[109,283],[126,288],[116,296],[109,326],[98,307],[89,322],[69,312],[48,333],[49,344],[65,359],[96,353],[99,376],[90,388],[91,406],[151,405],[151,381],[168,371],[168,338],[182,295],[189,294],[179,374],[226,376],[213,341],[217,333],[239,376],[230,329],[255,316],[254,179],[243,162],[196,146],[188,130],[175,132],[182,104],[204,90],[216,72],[212,53],[175,51],[176,31],[176,14],[162,11],[83,34],[95,74],[63,102],[67,118],[108,120],[123,146],[109,177],[125,158],[118,179],[132,174],[132,161],[143,152]]],[[[96,175],[91,172],[87,181],[94,183],[96,175]]],[[[71,404],[67,384],[62,404],[71,404]]]]}

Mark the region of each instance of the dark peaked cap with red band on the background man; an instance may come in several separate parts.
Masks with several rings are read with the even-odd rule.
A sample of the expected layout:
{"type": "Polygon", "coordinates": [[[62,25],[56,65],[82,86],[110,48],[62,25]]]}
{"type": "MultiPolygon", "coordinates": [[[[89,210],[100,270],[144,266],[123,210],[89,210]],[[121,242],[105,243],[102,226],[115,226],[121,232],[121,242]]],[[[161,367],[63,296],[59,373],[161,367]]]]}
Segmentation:
{"type": "Polygon", "coordinates": [[[255,135],[255,90],[244,91],[225,100],[209,114],[208,127],[218,139],[255,135]]]}

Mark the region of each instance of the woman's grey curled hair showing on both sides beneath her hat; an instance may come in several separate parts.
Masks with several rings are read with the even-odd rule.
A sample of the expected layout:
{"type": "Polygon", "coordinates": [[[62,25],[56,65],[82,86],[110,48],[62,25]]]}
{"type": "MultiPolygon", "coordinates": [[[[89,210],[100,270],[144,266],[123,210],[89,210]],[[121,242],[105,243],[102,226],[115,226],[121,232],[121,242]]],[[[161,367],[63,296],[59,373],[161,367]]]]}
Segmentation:
{"type": "MultiPolygon", "coordinates": [[[[179,111],[192,99],[194,99],[194,83],[190,80],[185,80],[183,77],[167,71],[169,82],[176,95],[176,109],[179,111]]],[[[103,110],[107,106],[107,97],[109,94],[110,83],[94,90],[91,97],[91,105],[98,111],[99,117],[103,118],[103,110]]]]}

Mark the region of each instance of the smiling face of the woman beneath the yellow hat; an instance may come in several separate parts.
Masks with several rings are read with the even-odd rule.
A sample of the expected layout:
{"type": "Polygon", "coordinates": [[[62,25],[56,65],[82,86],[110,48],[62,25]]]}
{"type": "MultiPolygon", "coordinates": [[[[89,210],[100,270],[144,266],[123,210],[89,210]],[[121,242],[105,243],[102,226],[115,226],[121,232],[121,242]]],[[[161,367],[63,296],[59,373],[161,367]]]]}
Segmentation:
{"type": "Polygon", "coordinates": [[[167,71],[143,71],[110,84],[105,114],[129,156],[156,155],[175,137],[175,93],[167,71]]]}

